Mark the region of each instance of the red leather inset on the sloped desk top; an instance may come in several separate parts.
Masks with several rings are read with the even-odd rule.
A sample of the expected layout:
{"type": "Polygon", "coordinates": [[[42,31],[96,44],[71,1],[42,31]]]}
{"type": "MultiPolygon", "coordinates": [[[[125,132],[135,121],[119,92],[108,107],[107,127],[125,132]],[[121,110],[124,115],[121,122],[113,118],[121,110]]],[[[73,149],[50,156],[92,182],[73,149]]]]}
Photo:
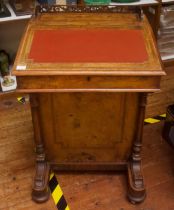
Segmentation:
{"type": "Polygon", "coordinates": [[[145,62],[141,30],[59,29],[35,31],[34,62],[145,62]],[[113,44],[114,43],[114,44],[113,44]]]}

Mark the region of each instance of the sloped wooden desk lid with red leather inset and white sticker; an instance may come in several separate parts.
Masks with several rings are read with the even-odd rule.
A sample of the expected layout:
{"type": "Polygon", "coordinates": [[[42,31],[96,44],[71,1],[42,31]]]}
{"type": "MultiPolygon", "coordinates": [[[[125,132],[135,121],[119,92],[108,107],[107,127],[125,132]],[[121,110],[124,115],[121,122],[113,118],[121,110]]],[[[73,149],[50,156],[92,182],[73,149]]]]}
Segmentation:
{"type": "Polygon", "coordinates": [[[45,13],[32,19],[15,75],[164,75],[145,17],[130,13],[45,13]]]}

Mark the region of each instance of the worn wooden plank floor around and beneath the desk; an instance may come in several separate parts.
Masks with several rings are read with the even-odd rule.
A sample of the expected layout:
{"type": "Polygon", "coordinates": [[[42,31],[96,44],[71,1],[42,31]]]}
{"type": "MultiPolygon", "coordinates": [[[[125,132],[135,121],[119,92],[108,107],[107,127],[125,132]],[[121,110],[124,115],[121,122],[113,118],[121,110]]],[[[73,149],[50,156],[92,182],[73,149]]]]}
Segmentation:
{"type": "MultiPolygon", "coordinates": [[[[29,104],[0,98],[0,210],[55,210],[52,198],[31,200],[35,150],[29,104]]],[[[143,171],[147,198],[126,199],[126,174],[59,173],[71,210],[174,210],[174,152],[161,138],[163,123],[144,128],[143,171]]]]}

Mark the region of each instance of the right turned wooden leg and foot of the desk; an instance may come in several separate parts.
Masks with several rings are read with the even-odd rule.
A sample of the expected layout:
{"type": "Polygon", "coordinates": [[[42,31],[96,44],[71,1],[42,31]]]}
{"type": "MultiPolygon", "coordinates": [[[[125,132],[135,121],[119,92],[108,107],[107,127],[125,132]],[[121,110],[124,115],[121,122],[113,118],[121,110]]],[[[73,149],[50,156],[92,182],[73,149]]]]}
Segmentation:
{"type": "Polygon", "coordinates": [[[146,197],[141,166],[141,148],[145,106],[146,94],[141,94],[139,116],[137,121],[137,133],[133,144],[131,159],[128,164],[128,198],[132,203],[142,202],[146,197]]]}

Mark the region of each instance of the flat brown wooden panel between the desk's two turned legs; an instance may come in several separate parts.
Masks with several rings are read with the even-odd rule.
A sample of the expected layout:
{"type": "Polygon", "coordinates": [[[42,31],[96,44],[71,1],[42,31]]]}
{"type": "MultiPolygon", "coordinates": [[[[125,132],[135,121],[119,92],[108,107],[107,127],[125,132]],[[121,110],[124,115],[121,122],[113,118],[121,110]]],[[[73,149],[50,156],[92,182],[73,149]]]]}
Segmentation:
{"type": "Polygon", "coordinates": [[[42,138],[52,163],[125,162],[136,132],[138,93],[42,93],[42,138]]]}

